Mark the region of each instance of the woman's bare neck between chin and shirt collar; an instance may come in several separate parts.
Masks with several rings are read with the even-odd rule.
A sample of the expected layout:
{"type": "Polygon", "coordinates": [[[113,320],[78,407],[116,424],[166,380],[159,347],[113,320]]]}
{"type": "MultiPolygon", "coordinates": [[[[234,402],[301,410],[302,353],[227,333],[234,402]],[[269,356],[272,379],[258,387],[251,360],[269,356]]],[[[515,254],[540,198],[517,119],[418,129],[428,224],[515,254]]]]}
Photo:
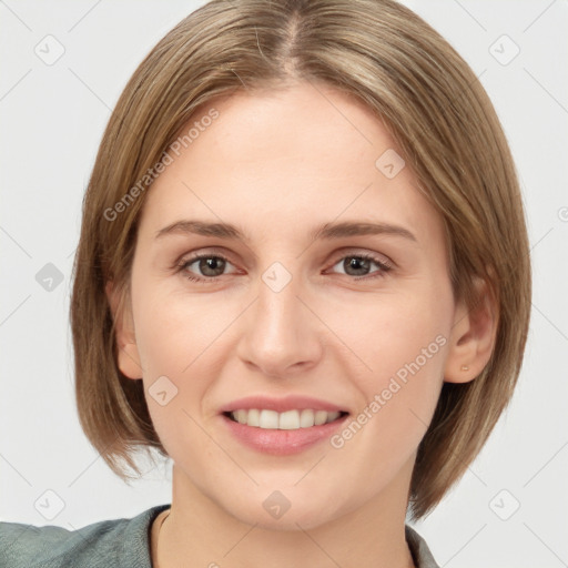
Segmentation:
{"type": "Polygon", "coordinates": [[[313,528],[294,523],[295,528],[282,530],[237,519],[174,465],[172,507],[168,517],[164,511],[156,519],[152,532],[153,566],[414,568],[404,531],[409,477],[400,477],[341,517],[313,528]]]}

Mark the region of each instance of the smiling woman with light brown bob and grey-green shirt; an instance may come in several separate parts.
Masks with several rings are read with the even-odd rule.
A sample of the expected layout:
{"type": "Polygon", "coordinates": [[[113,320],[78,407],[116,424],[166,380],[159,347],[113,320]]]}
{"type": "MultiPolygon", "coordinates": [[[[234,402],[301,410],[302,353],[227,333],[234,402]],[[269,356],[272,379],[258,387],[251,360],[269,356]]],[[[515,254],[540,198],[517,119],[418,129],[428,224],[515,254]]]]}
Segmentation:
{"type": "Polygon", "coordinates": [[[87,191],[83,429],[171,505],[1,524],[6,566],[436,567],[427,515],[510,399],[528,239],[495,111],[390,0],[212,1],[141,63],[87,191]],[[42,564],[43,562],[43,564],[42,564]]]}

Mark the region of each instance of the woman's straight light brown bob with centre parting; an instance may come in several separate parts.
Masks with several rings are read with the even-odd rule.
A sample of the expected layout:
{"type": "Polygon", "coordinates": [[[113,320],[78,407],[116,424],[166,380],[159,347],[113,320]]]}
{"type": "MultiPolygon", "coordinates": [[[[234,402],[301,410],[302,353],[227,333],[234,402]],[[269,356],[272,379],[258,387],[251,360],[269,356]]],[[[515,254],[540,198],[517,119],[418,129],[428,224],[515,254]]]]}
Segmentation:
{"type": "Polygon", "coordinates": [[[471,382],[444,383],[418,447],[408,495],[416,520],[463,476],[509,403],[528,334],[531,268],[516,169],[488,95],[448,42],[394,0],[213,0],[138,67],[83,200],[70,305],[81,427],[126,483],[126,465],[140,475],[134,449],[168,456],[142,381],[118,367],[105,284],[114,283],[121,310],[146,190],[201,105],[298,81],[351,93],[376,114],[444,221],[455,300],[473,310],[481,280],[495,301],[489,362],[471,382]]]}

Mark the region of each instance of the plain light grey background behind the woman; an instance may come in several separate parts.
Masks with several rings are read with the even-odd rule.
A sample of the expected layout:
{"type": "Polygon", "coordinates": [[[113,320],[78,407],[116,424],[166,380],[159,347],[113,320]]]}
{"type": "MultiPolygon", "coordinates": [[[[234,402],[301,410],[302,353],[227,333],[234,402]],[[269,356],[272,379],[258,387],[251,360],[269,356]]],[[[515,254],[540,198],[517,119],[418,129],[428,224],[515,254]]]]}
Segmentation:
{"type": "MultiPolygon", "coordinates": [[[[72,529],[170,503],[170,464],[148,464],[129,487],[80,429],[70,274],[111,109],[146,52],[202,3],[0,1],[1,520],[72,529]],[[49,61],[58,49],[64,53],[49,61]],[[48,263],[62,277],[52,291],[37,281],[53,271],[48,263]]],[[[494,101],[521,180],[535,275],[513,403],[462,481],[416,528],[443,567],[567,566],[568,3],[403,3],[450,41],[494,101]]]]}

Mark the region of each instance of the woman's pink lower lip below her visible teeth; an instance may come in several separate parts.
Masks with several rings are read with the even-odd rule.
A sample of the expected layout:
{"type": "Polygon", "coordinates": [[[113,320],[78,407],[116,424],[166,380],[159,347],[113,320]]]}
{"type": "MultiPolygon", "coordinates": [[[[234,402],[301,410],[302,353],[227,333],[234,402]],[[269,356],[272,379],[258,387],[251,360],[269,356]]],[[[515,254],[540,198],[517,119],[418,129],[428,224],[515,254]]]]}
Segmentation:
{"type": "Polygon", "coordinates": [[[295,430],[280,430],[258,428],[234,422],[225,415],[221,415],[230,432],[245,446],[257,452],[287,456],[298,454],[311,448],[318,442],[329,438],[346,420],[347,414],[327,424],[298,428],[295,430]]]}

